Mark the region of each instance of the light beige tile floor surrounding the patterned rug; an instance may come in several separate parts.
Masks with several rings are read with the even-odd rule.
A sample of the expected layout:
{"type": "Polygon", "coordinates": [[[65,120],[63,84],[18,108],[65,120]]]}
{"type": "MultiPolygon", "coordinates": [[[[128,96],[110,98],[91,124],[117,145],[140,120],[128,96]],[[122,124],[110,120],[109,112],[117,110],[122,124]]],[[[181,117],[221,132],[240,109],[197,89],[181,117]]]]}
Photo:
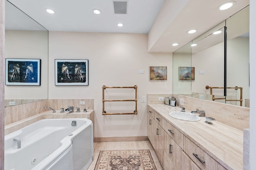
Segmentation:
{"type": "Polygon", "coordinates": [[[149,149],[157,170],[164,170],[150,141],[94,142],[94,159],[88,170],[94,170],[100,150],[149,149]]]}

